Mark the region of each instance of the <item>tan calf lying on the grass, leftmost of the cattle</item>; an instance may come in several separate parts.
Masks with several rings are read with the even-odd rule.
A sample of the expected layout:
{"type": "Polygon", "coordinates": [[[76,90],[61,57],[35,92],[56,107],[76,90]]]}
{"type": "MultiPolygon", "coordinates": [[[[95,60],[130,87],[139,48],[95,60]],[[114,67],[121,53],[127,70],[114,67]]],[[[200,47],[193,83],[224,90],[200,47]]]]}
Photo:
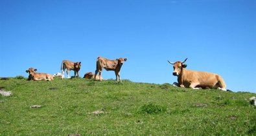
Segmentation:
{"type": "Polygon", "coordinates": [[[37,69],[29,68],[29,70],[26,70],[27,73],[29,73],[29,81],[53,81],[52,75],[48,73],[36,73],[37,69]]]}

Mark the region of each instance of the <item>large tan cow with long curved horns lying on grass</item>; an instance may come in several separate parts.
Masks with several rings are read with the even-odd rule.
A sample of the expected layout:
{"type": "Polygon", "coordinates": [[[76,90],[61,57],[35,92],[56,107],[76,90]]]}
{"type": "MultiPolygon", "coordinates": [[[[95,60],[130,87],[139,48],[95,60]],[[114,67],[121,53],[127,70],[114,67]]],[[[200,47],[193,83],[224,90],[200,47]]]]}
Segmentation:
{"type": "Polygon", "coordinates": [[[213,88],[226,91],[226,83],[220,75],[209,72],[186,70],[185,68],[187,67],[187,64],[184,64],[186,61],[187,59],[183,62],[176,61],[176,63],[168,61],[170,64],[174,65],[174,72],[172,72],[172,75],[178,77],[178,83],[174,82],[174,85],[182,88],[213,88]]]}

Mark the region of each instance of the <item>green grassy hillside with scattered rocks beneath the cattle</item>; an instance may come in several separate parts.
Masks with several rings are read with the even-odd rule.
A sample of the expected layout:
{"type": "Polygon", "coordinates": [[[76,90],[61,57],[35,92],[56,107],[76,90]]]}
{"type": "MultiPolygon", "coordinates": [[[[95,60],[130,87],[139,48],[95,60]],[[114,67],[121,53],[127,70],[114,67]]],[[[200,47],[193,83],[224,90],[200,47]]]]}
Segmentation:
{"type": "Polygon", "coordinates": [[[256,135],[255,93],[86,79],[0,87],[12,92],[0,95],[0,135],[256,135]]]}

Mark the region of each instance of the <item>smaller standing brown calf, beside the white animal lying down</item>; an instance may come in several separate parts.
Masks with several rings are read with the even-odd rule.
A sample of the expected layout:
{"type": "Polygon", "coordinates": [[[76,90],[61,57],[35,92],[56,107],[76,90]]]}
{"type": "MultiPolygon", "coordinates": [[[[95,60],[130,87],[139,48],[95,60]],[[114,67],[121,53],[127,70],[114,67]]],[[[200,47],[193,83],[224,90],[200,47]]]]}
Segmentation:
{"type": "Polygon", "coordinates": [[[81,68],[81,62],[73,63],[73,62],[67,61],[67,60],[62,61],[62,66],[60,66],[60,70],[62,70],[62,79],[65,78],[64,77],[64,71],[65,71],[66,68],[67,68],[67,78],[70,78],[69,77],[69,70],[73,70],[74,74],[75,74],[75,77],[76,77],[76,73],[77,73],[77,77],[79,77],[79,70],[81,68]]]}

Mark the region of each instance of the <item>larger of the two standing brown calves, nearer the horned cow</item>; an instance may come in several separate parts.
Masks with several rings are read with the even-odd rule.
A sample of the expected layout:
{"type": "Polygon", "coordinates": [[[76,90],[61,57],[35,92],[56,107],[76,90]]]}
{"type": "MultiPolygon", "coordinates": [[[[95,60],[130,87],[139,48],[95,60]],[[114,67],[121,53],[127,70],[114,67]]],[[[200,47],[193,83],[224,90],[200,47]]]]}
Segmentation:
{"type": "Polygon", "coordinates": [[[104,68],[107,71],[109,71],[109,70],[115,71],[115,77],[116,77],[117,81],[121,82],[120,70],[121,70],[121,67],[122,67],[122,64],[124,63],[124,61],[127,61],[127,59],[122,58],[122,57],[119,59],[115,59],[115,60],[106,59],[104,57],[98,57],[97,62],[96,62],[96,70],[95,70],[94,80],[96,81],[96,75],[99,72],[99,79],[100,79],[100,81],[102,81],[101,72],[104,68]],[[119,78],[117,78],[117,76],[119,78]]]}

